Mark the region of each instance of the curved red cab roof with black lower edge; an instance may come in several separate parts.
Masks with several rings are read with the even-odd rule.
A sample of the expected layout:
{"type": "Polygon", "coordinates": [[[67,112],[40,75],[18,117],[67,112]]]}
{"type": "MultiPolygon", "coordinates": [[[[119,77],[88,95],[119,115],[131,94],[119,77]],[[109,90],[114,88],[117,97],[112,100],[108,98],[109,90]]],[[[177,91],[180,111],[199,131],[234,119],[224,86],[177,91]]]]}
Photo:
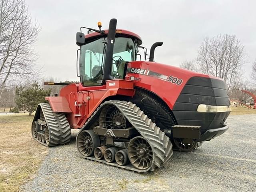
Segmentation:
{"type": "MultiPolygon", "coordinates": [[[[96,38],[104,37],[108,35],[108,30],[104,30],[105,33],[101,34],[98,32],[92,32],[90,34],[85,35],[85,41],[90,42],[91,40],[94,40],[96,38]]],[[[136,33],[130,32],[128,30],[124,29],[116,29],[116,37],[130,37],[130,38],[135,38],[138,42],[138,45],[142,44],[142,40],[140,36],[138,36],[136,33]]]]}

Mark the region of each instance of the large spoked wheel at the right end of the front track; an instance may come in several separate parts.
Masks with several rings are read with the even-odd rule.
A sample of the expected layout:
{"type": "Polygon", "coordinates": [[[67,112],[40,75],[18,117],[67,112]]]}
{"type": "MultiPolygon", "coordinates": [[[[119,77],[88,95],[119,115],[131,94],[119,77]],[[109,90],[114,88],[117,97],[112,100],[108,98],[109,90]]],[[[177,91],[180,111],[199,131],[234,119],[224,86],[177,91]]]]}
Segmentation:
{"type": "Polygon", "coordinates": [[[128,158],[135,168],[148,169],[153,161],[152,147],[142,136],[134,137],[128,144],[128,158]]]}

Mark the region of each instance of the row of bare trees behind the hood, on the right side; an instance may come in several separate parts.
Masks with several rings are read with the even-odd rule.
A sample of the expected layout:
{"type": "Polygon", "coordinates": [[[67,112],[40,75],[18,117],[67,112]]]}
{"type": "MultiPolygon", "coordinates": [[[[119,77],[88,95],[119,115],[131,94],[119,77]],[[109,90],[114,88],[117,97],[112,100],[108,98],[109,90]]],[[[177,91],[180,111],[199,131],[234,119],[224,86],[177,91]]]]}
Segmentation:
{"type": "Polygon", "coordinates": [[[180,67],[221,78],[226,83],[230,98],[245,100],[240,90],[256,92],[256,60],[252,64],[250,78],[246,79],[243,76],[246,58],[240,40],[235,35],[224,34],[204,38],[198,56],[182,62],[180,67]]]}

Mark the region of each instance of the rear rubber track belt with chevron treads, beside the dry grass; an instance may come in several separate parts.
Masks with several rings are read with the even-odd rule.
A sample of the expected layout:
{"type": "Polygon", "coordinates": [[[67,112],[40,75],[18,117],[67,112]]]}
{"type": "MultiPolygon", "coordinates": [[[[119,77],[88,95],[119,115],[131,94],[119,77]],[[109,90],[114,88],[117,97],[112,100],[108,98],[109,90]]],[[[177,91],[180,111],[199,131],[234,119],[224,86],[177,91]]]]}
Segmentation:
{"type": "MultiPolygon", "coordinates": [[[[39,106],[44,114],[44,118],[49,129],[50,141],[47,145],[36,138],[34,139],[44,146],[56,146],[70,142],[71,129],[65,114],[62,112],[53,112],[49,103],[40,103],[37,108],[39,106]]],[[[36,112],[38,111],[40,110],[36,109],[36,112]]]]}

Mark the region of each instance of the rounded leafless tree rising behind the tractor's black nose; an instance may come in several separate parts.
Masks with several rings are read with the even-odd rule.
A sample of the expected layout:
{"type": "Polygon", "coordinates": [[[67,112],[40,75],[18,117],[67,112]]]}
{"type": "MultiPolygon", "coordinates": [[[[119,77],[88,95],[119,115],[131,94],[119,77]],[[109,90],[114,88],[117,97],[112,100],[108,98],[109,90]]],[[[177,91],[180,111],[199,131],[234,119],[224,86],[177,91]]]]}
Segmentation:
{"type": "Polygon", "coordinates": [[[222,78],[230,89],[240,80],[245,58],[244,46],[236,36],[226,34],[204,38],[197,62],[202,72],[222,78]]]}

